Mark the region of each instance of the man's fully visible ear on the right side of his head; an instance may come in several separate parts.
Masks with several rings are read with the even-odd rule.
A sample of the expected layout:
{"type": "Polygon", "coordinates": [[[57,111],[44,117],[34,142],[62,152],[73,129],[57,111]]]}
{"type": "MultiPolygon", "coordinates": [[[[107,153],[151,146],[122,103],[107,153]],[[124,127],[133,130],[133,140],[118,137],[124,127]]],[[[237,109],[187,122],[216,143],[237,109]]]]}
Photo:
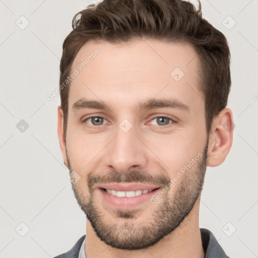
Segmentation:
{"type": "Polygon", "coordinates": [[[233,115],[229,108],[221,110],[213,120],[209,136],[207,166],[222,164],[228,155],[233,141],[233,115]]]}

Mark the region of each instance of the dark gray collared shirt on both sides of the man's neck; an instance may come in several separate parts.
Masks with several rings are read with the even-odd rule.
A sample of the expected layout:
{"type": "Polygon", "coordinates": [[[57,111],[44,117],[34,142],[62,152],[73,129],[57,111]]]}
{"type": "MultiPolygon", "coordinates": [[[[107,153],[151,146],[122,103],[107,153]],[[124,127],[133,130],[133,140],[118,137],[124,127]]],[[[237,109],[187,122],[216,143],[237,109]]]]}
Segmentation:
{"type": "MultiPolygon", "coordinates": [[[[213,233],[206,229],[200,228],[203,248],[205,251],[205,258],[229,258],[222,247],[216,240],[213,233]]],[[[63,254],[55,256],[54,258],[86,258],[85,256],[85,236],[83,235],[74,245],[74,247],[63,254]]]]}

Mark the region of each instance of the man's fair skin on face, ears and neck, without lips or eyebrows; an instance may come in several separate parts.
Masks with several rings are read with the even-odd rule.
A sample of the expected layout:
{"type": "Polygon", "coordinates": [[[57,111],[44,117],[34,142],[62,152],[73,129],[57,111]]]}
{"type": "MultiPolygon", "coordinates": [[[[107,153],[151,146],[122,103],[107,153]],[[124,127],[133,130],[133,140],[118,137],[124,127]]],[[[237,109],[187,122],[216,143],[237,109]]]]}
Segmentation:
{"type": "Polygon", "coordinates": [[[96,48],[99,54],[70,84],[66,138],[58,107],[63,161],[80,176],[72,186],[88,218],[87,258],[204,257],[200,195],[206,165],[220,165],[231,148],[231,110],[220,112],[207,136],[199,59],[189,44],[152,39],[122,44],[89,41],[75,57],[72,71],[96,48]],[[179,81],[170,75],[175,68],[184,73],[179,81]],[[109,109],[73,110],[81,98],[100,101],[109,109]],[[153,98],[180,101],[188,111],[137,108],[153,98]],[[104,118],[95,120],[99,123],[89,119],[98,116],[104,118]],[[164,116],[168,119],[160,123],[157,118],[164,116]],[[132,128],[125,133],[121,122],[132,128]],[[192,159],[195,162],[189,163],[192,159]],[[175,181],[186,164],[192,165],[175,181]],[[171,181],[173,186],[155,204],[114,209],[97,185],[122,181],[158,184],[161,189],[171,181]]]}

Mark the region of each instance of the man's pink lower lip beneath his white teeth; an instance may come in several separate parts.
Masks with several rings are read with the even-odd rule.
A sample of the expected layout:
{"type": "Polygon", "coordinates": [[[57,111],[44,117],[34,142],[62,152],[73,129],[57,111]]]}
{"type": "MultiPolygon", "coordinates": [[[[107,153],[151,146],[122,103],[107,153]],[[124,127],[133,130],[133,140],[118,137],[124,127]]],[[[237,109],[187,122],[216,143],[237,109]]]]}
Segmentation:
{"type": "Polygon", "coordinates": [[[136,207],[140,204],[150,201],[151,197],[155,195],[159,190],[160,188],[156,188],[155,190],[135,197],[117,197],[112,196],[110,193],[106,192],[106,190],[100,188],[100,192],[102,193],[104,200],[115,208],[120,209],[136,207]]]}

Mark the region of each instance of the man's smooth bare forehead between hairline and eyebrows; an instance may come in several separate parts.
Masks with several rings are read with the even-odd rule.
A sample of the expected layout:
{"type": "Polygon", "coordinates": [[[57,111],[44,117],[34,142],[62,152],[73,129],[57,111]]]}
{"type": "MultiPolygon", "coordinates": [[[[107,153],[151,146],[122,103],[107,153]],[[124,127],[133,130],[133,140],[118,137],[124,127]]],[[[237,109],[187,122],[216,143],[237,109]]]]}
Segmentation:
{"type": "Polygon", "coordinates": [[[128,106],[156,96],[203,102],[198,64],[195,49],[186,43],[89,41],[73,61],[69,109],[83,97],[128,106]]]}

